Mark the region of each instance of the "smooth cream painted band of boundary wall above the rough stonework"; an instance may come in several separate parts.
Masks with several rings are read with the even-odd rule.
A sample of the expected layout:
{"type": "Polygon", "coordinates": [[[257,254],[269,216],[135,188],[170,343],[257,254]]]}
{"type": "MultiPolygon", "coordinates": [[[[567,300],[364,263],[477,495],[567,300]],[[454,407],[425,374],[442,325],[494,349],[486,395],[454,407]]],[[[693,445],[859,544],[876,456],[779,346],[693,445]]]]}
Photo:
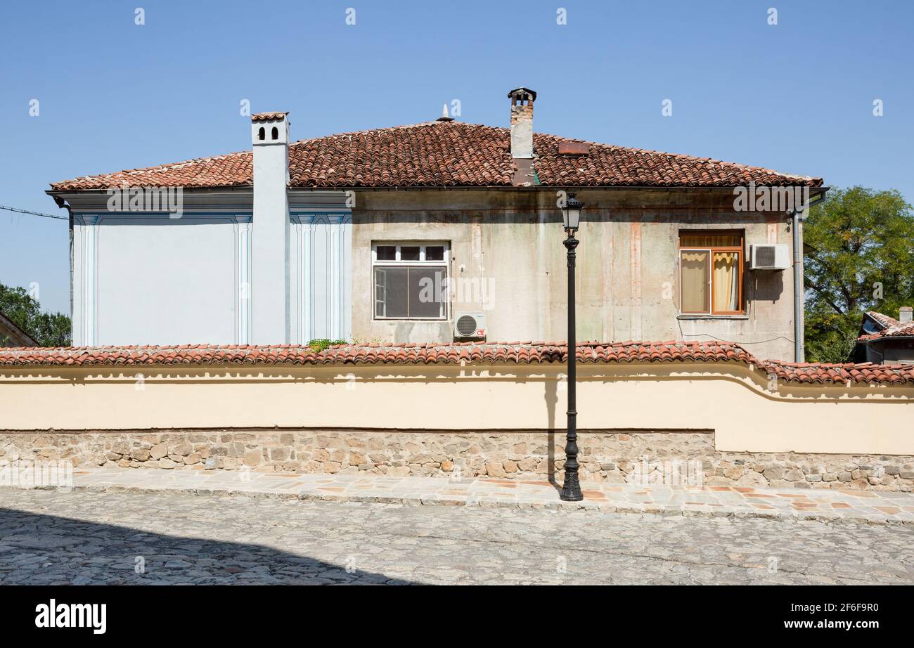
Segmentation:
{"type": "MultiPolygon", "coordinates": [[[[562,366],[0,371],[0,430],[565,425],[562,366]]],[[[914,454],[914,388],[781,384],[747,366],[579,367],[581,430],[714,430],[719,451],[914,454]]],[[[584,436],[586,443],[586,434],[584,436]]]]}

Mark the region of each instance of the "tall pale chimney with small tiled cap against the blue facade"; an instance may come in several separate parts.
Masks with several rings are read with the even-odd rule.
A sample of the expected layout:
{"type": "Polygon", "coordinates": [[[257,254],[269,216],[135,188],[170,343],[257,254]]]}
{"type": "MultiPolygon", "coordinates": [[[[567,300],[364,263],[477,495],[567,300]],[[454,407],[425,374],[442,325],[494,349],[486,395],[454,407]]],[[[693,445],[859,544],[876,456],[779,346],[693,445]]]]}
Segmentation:
{"type": "MultiPolygon", "coordinates": [[[[289,120],[287,112],[250,116],[254,215],[250,269],[250,342],[289,343],[289,120]]],[[[244,294],[242,292],[242,294],[244,294]]]]}

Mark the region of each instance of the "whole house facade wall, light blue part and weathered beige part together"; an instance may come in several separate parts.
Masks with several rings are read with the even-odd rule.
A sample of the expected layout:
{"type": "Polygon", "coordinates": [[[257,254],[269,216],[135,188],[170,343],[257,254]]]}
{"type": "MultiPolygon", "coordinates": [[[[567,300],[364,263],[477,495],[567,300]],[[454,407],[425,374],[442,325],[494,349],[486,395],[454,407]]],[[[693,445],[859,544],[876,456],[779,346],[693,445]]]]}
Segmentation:
{"type": "MultiPolygon", "coordinates": [[[[236,193],[250,200],[245,191],[236,193]]],[[[250,207],[239,196],[187,192],[184,218],[159,216],[157,224],[142,214],[93,213],[103,206],[101,195],[95,203],[74,198],[80,210],[73,228],[74,344],[250,341],[259,238],[257,219],[250,223],[243,212],[250,214],[250,207]],[[236,207],[241,211],[232,211],[236,207]]],[[[288,308],[277,311],[285,324],[274,342],[349,337],[350,331],[357,341],[450,342],[453,314],[461,311],[484,311],[491,341],[565,339],[566,260],[555,191],[359,190],[351,242],[347,225],[326,226],[341,241],[326,249],[340,248],[341,261],[324,262],[317,253],[323,248],[312,249],[319,237],[303,234],[314,228],[298,221],[321,206],[342,208],[344,197],[291,192],[296,224],[287,250],[288,308]],[[456,294],[448,321],[373,318],[371,243],[383,240],[450,241],[456,294]]],[[[680,230],[739,229],[747,250],[752,243],[790,245],[783,218],[734,212],[728,190],[592,189],[579,197],[586,204],[578,248],[579,339],[717,338],[739,342],[756,356],[793,359],[790,271],[747,271],[745,315],[678,315],[680,230]]],[[[269,250],[260,250],[259,258],[271,258],[269,250]]]]}

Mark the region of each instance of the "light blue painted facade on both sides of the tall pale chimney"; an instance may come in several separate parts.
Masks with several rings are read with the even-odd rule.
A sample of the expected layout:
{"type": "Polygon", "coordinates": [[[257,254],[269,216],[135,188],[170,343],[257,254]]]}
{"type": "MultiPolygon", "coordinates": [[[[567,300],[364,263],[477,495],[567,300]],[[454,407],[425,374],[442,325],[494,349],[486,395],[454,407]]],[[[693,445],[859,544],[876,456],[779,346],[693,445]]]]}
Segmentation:
{"type": "MultiPolygon", "coordinates": [[[[290,220],[289,339],[351,340],[351,213],[290,220]]],[[[251,229],[250,214],[75,213],[73,344],[250,344],[251,229]]]]}

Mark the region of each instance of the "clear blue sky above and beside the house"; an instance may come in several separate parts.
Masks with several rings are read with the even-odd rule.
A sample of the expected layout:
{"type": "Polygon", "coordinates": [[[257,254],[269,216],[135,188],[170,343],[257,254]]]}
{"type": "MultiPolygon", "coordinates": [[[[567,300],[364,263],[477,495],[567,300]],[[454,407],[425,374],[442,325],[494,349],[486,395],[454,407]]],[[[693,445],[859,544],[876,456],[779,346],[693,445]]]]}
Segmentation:
{"type": "MultiPolygon", "coordinates": [[[[907,0],[83,0],[4,3],[0,24],[3,205],[65,214],[48,183],[250,148],[244,99],[291,112],[303,139],[427,121],[454,99],[462,121],[505,126],[521,85],[538,92],[539,132],[914,200],[907,0]]],[[[66,221],[0,211],[0,282],[36,282],[69,313],[68,236],[66,221]]]]}

